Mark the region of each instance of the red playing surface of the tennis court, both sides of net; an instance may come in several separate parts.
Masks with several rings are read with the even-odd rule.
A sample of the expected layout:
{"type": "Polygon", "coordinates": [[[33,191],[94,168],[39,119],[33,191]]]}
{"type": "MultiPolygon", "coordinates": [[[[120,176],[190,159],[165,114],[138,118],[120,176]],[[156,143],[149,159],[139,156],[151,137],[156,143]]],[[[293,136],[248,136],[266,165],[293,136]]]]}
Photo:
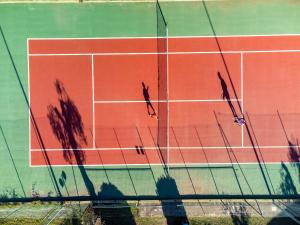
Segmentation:
{"type": "MultiPolygon", "coordinates": [[[[289,162],[300,135],[299,43],[296,35],[170,37],[167,163],[289,162]],[[230,104],[246,125],[234,123],[230,104]]],[[[31,165],[163,163],[161,117],[148,115],[142,87],[157,111],[156,48],[156,38],[29,39],[30,106],[45,146],[31,124],[31,165]]]]}

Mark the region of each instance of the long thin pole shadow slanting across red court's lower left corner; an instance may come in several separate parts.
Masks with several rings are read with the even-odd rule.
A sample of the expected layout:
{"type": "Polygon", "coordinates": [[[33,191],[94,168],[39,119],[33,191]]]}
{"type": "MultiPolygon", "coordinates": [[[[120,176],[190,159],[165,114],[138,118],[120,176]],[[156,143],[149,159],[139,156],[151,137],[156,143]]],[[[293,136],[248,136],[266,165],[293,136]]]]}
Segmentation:
{"type": "Polygon", "coordinates": [[[62,194],[61,194],[61,192],[60,192],[59,185],[58,185],[57,180],[56,180],[56,177],[55,177],[55,175],[54,175],[54,171],[53,171],[53,168],[52,168],[52,166],[51,166],[50,159],[49,159],[48,154],[47,154],[47,152],[46,152],[46,148],[45,148],[45,145],[44,145],[44,142],[43,142],[41,133],[40,133],[40,131],[39,131],[39,128],[38,128],[38,125],[37,125],[37,123],[36,123],[34,114],[33,114],[32,110],[31,110],[30,105],[29,105],[29,101],[28,101],[28,99],[27,99],[27,95],[26,95],[25,89],[24,89],[23,84],[22,84],[22,82],[21,82],[21,79],[20,79],[20,76],[19,76],[19,72],[18,72],[17,67],[16,67],[16,65],[15,65],[14,59],[13,59],[13,57],[12,57],[12,54],[11,54],[11,52],[10,52],[10,50],[9,50],[9,47],[8,47],[8,44],[7,44],[7,41],[6,41],[6,38],[5,38],[5,35],[4,35],[3,30],[2,30],[2,26],[1,26],[1,25],[0,25],[0,33],[1,33],[2,39],[3,39],[3,41],[4,41],[6,50],[7,50],[7,52],[8,52],[8,55],[9,55],[10,61],[11,61],[11,63],[12,63],[12,66],[13,66],[13,68],[14,68],[14,71],[15,71],[15,74],[16,74],[16,77],[17,77],[17,80],[18,80],[18,83],[19,83],[19,85],[20,85],[22,94],[23,94],[23,96],[24,96],[24,98],[25,98],[26,105],[27,105],[27,107],[29,108],[29,114],[30,114],[31,124],[33,125],[34,133],[35,133],[35,135],[36,135],[36,137],[37,137],[37,140],[38,140],[39,145],[40,145],[40,147],[41,147],[41,150],[42,150],[42,152],[43,152],[43,157],[44,157],[44,159],[45,159],[45,161],[46,161],[46,163],[47,163],[47,169],[48,169],[48,172],[49,172],[49,175],[50,175],[50,179],[51,179],[51,181],[52,181],[52,184],[53,184],[53,186],[54,186],[54,189],[55,189],[55,191],[56,191],[56,194],[57,194],[58,196],[61,197],[62,194]]]}

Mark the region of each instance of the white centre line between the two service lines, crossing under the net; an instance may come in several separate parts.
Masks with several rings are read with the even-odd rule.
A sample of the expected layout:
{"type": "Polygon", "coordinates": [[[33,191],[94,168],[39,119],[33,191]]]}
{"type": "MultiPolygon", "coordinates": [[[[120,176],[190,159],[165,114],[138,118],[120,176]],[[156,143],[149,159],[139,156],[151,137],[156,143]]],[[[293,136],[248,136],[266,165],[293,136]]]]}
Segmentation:
{"type": "MultiPolygon", "coordinates": [[[[240,99],[231,99],[232,102],[240,101],[240,99]]],[[[145,100],[114,100],[114,101],[94,101],[96,104],[120,104],[120,103],[145,103],[145,100]]],[[[178,100],[151,100],[152,103],[189,103],[189,102],[227,102],[227,100],[224,99],[195,99],[195,100],[189,100],[189,99],[178,99],[178,100]]]]}

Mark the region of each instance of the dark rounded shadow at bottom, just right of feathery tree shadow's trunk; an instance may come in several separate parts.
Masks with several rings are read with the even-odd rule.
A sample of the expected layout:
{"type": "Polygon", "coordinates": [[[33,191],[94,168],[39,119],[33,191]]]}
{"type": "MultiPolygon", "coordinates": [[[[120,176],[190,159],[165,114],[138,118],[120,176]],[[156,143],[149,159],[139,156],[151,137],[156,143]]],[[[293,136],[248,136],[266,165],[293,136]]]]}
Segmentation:
{"type": "Polygon", "coordinates": [[[100,204],[94,206],[94,212],[105,225],[136,225],[133,212],[124,194],[112,183],[102,183],[98,193],[99,199],[103,200],[100,204]],[[111,199],[117,199],[112,202],[111,199]],[[105,200],[110,200],[105,202],[105,200]]]}

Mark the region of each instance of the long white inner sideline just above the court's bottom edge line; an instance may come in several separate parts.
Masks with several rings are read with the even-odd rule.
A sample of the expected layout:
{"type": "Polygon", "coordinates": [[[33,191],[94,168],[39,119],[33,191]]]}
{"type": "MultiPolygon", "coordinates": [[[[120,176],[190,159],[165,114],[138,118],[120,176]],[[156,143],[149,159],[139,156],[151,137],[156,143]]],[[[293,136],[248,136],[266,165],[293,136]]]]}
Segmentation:
{"type": "MultiPolygon", "coordinates": [[[[178,147],[169,147],[170,149],[178,149],[178,147]]],[[[180,147],[182,150],[192,150],[192,149],[281,149],[281,148],[291,148],[291,146],[284,145],[284,146],[231,146],[231,147],[225,147],[225,146],[183,146],[180,147]]],[[[292,146],[292,148],[300,148],[300,146],[292,146]]],[[[144,147],[145,150],[157,150],[156,147],[144,147]]],[[[46,148],[45,151],[110,151],[110,150],[136,150],[136,148],[84,148],[84,149],[62,149],[62,148],[46,148]]],[[[33,148],[30,149],[32,152],[39,152],[44,151],[42,149],[33,148]]]]}

